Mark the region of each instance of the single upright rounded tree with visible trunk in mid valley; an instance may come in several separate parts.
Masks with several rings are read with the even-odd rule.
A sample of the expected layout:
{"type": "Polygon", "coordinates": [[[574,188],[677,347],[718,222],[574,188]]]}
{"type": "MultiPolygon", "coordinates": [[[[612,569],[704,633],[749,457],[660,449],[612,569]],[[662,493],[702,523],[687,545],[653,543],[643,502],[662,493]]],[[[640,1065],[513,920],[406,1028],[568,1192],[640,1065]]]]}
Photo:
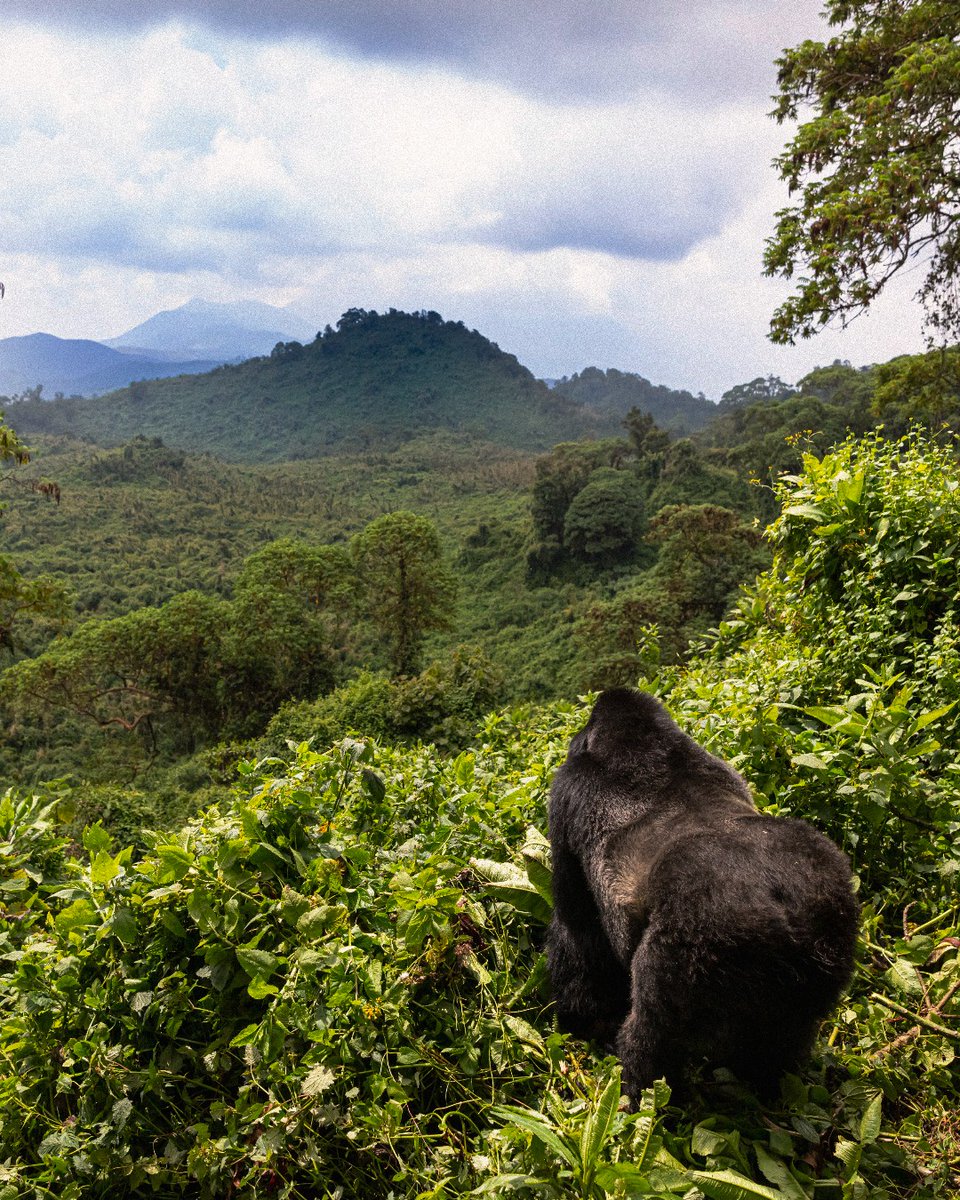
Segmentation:
{"type": "Polygon", "coordinates": [[[414,674],[424,635],[449,629],[456,580],[436,526],[414,512],[388,512],[352,544],[361,605],[383,636],[395,676],[414,674]]]}

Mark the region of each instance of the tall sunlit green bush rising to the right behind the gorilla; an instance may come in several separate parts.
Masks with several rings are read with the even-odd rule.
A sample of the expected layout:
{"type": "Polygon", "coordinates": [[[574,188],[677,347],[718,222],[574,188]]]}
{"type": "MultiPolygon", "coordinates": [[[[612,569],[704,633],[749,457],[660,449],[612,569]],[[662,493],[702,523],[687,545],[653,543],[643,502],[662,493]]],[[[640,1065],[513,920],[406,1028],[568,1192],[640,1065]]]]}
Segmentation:
{"type": "MultiPolygon", "coordinates": [[[[948,904],[960,866],[960,473],[918,436],[847,442],[780,486],[774,563],[670,703],[871,888],[948,904]]],[[[695,659],[697,655],[695,655],[695,659]]]]}

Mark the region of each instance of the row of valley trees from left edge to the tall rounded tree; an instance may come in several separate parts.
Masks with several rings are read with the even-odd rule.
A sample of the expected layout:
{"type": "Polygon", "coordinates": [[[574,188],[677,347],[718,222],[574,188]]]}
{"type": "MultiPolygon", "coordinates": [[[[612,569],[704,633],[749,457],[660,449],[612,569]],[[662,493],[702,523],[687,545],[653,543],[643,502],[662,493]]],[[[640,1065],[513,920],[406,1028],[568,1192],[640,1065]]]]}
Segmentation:
{"type": "Polygon", "coordinates": [[[19,714],[66,712],[138,733],[151,756],[260,732],[290,697],[329,691],[360,612],[406,671],[449,619],[452,575],[426,517],[388,514],[342,546],[292,539],[251,556],[233,600],[184,592],[91,620],[2,678],[19,714]]]}

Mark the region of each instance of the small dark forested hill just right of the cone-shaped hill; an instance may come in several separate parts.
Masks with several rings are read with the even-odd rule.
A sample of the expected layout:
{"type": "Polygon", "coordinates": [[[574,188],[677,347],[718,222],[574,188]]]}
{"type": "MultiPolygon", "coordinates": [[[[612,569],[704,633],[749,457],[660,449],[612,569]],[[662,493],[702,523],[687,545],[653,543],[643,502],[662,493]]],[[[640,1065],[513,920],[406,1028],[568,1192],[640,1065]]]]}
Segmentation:
{"type": "Polygon", "coordinates": [[[716,415],[716,404],[702,394],[674,391],[643,376],[612,368],[587,367],[569,379],[560,379],[553,390],[605,416],[623,419],[631,408],[638,408],[641,413],[649,413],[661,428],[680,436],[702,430],[716,415]]]}

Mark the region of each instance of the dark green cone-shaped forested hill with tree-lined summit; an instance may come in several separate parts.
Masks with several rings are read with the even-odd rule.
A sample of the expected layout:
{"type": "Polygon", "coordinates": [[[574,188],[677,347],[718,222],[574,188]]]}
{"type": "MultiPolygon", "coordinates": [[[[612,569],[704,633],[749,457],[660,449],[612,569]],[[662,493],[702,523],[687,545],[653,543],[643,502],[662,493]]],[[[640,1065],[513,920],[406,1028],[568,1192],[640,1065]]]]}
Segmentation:
{"type": "Polygon", "coordinates": [[[622,419],[551,391],[462,322],[362,308],[307,346],[278,343],[269,356],[238,366],[7,409],[26,437],[65,433],[101,445],[162,437],[238,462],[391,446],[431,430],[546,450],[617,432],[622,419]]]}

